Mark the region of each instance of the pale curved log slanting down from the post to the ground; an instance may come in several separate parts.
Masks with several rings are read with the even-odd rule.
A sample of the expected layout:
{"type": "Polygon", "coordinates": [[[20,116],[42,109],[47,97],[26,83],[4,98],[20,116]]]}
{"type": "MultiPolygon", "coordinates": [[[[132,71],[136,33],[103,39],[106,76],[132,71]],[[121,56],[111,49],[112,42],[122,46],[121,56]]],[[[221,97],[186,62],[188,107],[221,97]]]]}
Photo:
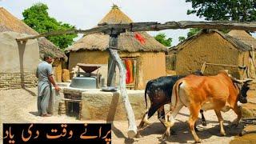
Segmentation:
{"type": "Polygon", "coordinates": [[[128,119],[128,138],[134,138],[134,136],[137,134],[137,126],[135,122],[134,117],[134,111],[130,105],[130,100],[126,91],[126,69],[122,64],[122,59],[118,55],[118,50],[113,50],[110,48],[107,48],[106,50],[109,51],[110,57],[114,59],[114,61],[117,62],[119,74],[120,74],[120,92],[122,96],[122,102],[125,105],[126,108],[126,116],[128,119]]]}

